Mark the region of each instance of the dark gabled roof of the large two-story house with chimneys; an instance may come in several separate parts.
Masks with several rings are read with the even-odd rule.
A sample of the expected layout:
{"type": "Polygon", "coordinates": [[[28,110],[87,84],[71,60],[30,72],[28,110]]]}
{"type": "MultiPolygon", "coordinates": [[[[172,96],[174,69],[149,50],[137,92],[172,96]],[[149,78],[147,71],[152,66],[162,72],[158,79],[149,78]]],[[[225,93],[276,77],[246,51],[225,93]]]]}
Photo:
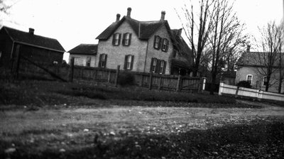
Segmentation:
{"type": "Polygon", "coordinates": [[[158,28],[160,28],[160,26],[162,26],[163,24],[165,24],[167,29],[170,30],[168,21],[137,21],[133,18],[124,16],[123,18],[121,18],[120,21],[111,23],[111,25],[106,30],[104,30],[101,34],[97,36],[97,39],[109,39],[109,37],[114,33],[114,31],[116,31],[117,28],[119,28],[121,23],[123,23],[124,21],[127,21],[129,23],[134,33],[136,33],[138,38],[141,40],[148,40],[148,38],[150,38],[151,35],[153,35],[153,33],[155,33],[155,31],[157,31],[158,28]]]}

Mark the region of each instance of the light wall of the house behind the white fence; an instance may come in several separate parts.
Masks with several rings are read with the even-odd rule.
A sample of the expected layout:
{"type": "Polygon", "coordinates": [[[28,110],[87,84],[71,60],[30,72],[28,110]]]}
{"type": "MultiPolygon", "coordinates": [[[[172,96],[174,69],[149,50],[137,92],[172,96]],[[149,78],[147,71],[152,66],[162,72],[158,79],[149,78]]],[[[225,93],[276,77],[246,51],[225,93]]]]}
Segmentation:
{"type": "MultiPolygon", "coordinates": [[[[261,67],[239,67],[236,72],[236,84],[246,80],[247,75],[253,75],[251,86],[254,89],[265,90],[266,87],[263,85],[263,75],[260,75],[258,70],[261,70],[261,67]]],[[[271,75],[270,84],[272,85],[268,88],[268,92],[278,92],[278,78],[279,72],[276,70],[273,75],[271,75]]],[[[282,83],[281,93],[284,93],[284,82],[282,83]]]]}

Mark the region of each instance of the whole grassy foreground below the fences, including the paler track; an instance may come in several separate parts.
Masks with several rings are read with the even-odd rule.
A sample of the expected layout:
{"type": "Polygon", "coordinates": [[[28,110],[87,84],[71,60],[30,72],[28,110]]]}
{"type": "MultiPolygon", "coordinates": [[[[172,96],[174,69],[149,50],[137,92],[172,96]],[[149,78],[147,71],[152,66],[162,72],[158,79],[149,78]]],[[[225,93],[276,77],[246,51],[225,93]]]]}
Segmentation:
{"type": "Polygon", "coordinates": [[[80,81],[0,84],[0,158],[284,158],[284,108],[80,81]]]}

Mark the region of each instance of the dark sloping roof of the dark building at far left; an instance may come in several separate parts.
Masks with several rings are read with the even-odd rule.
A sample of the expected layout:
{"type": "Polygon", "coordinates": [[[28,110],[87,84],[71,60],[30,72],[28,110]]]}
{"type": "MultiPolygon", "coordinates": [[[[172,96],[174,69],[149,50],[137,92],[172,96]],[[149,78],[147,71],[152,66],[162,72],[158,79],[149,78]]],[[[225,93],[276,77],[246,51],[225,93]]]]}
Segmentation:
{"type": "Polygon", "coordinates": [[[40,35],[34,35],[31,33],[27,33],[24,31],[18,31],[14,28],[9,28],[7,26],[3,26],[1,30],[4,29],[6,33],[10,36],[11,40],[16,43],[22,43],[23,45],[33,45],[38,48],[45,48],[48,50],[55,50],[58,52],[65,52],[64,48],[58,40],[54,38],[47,38],[40,35]]]}

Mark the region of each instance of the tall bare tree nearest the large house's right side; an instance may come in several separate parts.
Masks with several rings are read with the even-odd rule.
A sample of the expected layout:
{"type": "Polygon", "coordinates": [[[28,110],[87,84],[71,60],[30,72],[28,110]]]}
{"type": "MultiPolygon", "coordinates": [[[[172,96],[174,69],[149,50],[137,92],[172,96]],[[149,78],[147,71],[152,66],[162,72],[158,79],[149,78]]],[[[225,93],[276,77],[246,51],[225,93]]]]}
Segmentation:
{"type": "Polygon", "coordinates": [[[207,45],[209,33],[212,31],[212,11],[214,10],[212,4],[212,0],[201,0],[198,15],[195,15],[193,4],[190,4],[190,7],[185,4],[181,13],[176,10],[194,55],[192,67],[194,77],[197,76],[202,52],[207,45]]]}

